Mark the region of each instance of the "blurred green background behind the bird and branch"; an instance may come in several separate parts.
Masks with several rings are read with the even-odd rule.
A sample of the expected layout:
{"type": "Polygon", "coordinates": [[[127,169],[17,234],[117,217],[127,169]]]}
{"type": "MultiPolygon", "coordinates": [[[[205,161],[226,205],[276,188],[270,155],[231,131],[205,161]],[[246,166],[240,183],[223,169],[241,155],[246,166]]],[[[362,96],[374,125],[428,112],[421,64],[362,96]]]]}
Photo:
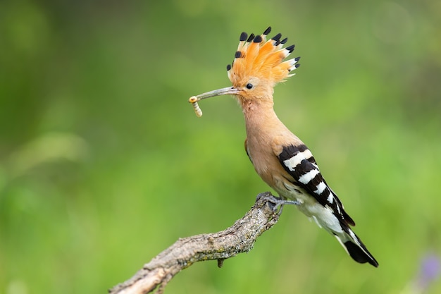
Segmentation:
{"type": "Polygon", "coordinates": [[[380,267],[287,207],[247,255],[166,293],[441,293],[421,273],[441,255],[435,0],[1,1],[0,293],[106,293],[243,216],[269,188],[241,111],[218,97],[197,118],[187,99],[230,85],[240,32],[268,25],[302,56],[275,110],[380,267]]]}

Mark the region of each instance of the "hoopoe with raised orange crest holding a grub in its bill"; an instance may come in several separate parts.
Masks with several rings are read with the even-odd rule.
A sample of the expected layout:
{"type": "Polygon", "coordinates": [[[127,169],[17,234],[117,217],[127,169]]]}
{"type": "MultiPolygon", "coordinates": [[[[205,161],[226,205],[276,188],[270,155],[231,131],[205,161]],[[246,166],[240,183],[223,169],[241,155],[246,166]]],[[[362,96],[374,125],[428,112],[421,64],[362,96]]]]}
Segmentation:
{"type": "Polygon", "coordinates": [[[294,75],[299,57],[284,61],[294,45],[283,48],[287,38],[277,34],[266,40],[271,27],[262,35],[240,35],[239,47],[227,66],[232,87],[206,92],[190,98],[197,115],[197,101],[230,94],[237,98],[245,118],[245,151],[254,169],[283,200],[316,221],[359,263],[378,262],[352,231],[354,220],[344,211],[342,202],[323,178],[316,159],[304,143],[279,120],[273,109],[273,88],[294,75]],[[289,201],[292,200],[292,201],[289,201]]]}

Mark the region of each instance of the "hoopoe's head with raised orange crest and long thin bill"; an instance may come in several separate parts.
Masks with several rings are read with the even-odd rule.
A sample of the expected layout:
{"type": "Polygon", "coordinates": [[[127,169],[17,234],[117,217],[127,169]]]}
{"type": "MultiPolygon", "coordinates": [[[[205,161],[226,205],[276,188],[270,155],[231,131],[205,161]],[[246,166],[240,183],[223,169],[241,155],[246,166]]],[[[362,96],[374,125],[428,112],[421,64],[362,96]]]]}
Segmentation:
{"type": "Polygon", "coordinates": [[[266,40],[270,31],[268,27],[256,36],[242,32],[235,59],[227,66],[232,87],[197,95],[197,99],[231,94],[242,103],[255,99],[272,101],[274,86],[294,75],[292,71],[299,67],[300,57],[284,61],[294,51],[294,45],[283,48],[287,38],[281,39],[281,34],[266,40]]]}

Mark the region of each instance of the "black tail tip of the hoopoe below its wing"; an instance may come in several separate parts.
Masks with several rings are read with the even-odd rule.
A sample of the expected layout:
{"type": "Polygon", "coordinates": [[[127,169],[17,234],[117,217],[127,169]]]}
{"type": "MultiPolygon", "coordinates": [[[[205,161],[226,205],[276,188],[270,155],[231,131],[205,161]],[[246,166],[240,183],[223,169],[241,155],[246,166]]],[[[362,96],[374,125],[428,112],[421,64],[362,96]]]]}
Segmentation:
{"type": "Polygon", "coordinates": [[[374,267],[378,267],[378,262],[368,251],[366,246],[361,242],[360,238],[355,235],[354,231],[349,226],[342,226],[342,233],[334,233],[335,238],[344,247],[344,250],[354,259],[356,262],[364,264],[368,262],[374,267]]]}

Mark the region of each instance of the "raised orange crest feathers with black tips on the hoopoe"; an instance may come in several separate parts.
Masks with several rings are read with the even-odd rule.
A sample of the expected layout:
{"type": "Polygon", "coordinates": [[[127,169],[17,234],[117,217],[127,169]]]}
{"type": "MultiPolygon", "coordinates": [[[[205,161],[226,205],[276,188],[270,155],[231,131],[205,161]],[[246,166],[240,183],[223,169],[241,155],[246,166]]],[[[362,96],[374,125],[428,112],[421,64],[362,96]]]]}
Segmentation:
{"type": "Polygon", "coordinates": [[[262,35],[249,37],[246,32],[240,35],[239,46],[232,64],[227,66],[228,78],[232,85],[240,85],[249,78],[259,78],[275,85],[294,75],[290,73],[300,66],[300,57],[283,61],[294,51],[294,45],[282,48],[287,38],[280,40],[277,34],[268,41],[266,36],[271,32],[268,27],[262,35]]]}

